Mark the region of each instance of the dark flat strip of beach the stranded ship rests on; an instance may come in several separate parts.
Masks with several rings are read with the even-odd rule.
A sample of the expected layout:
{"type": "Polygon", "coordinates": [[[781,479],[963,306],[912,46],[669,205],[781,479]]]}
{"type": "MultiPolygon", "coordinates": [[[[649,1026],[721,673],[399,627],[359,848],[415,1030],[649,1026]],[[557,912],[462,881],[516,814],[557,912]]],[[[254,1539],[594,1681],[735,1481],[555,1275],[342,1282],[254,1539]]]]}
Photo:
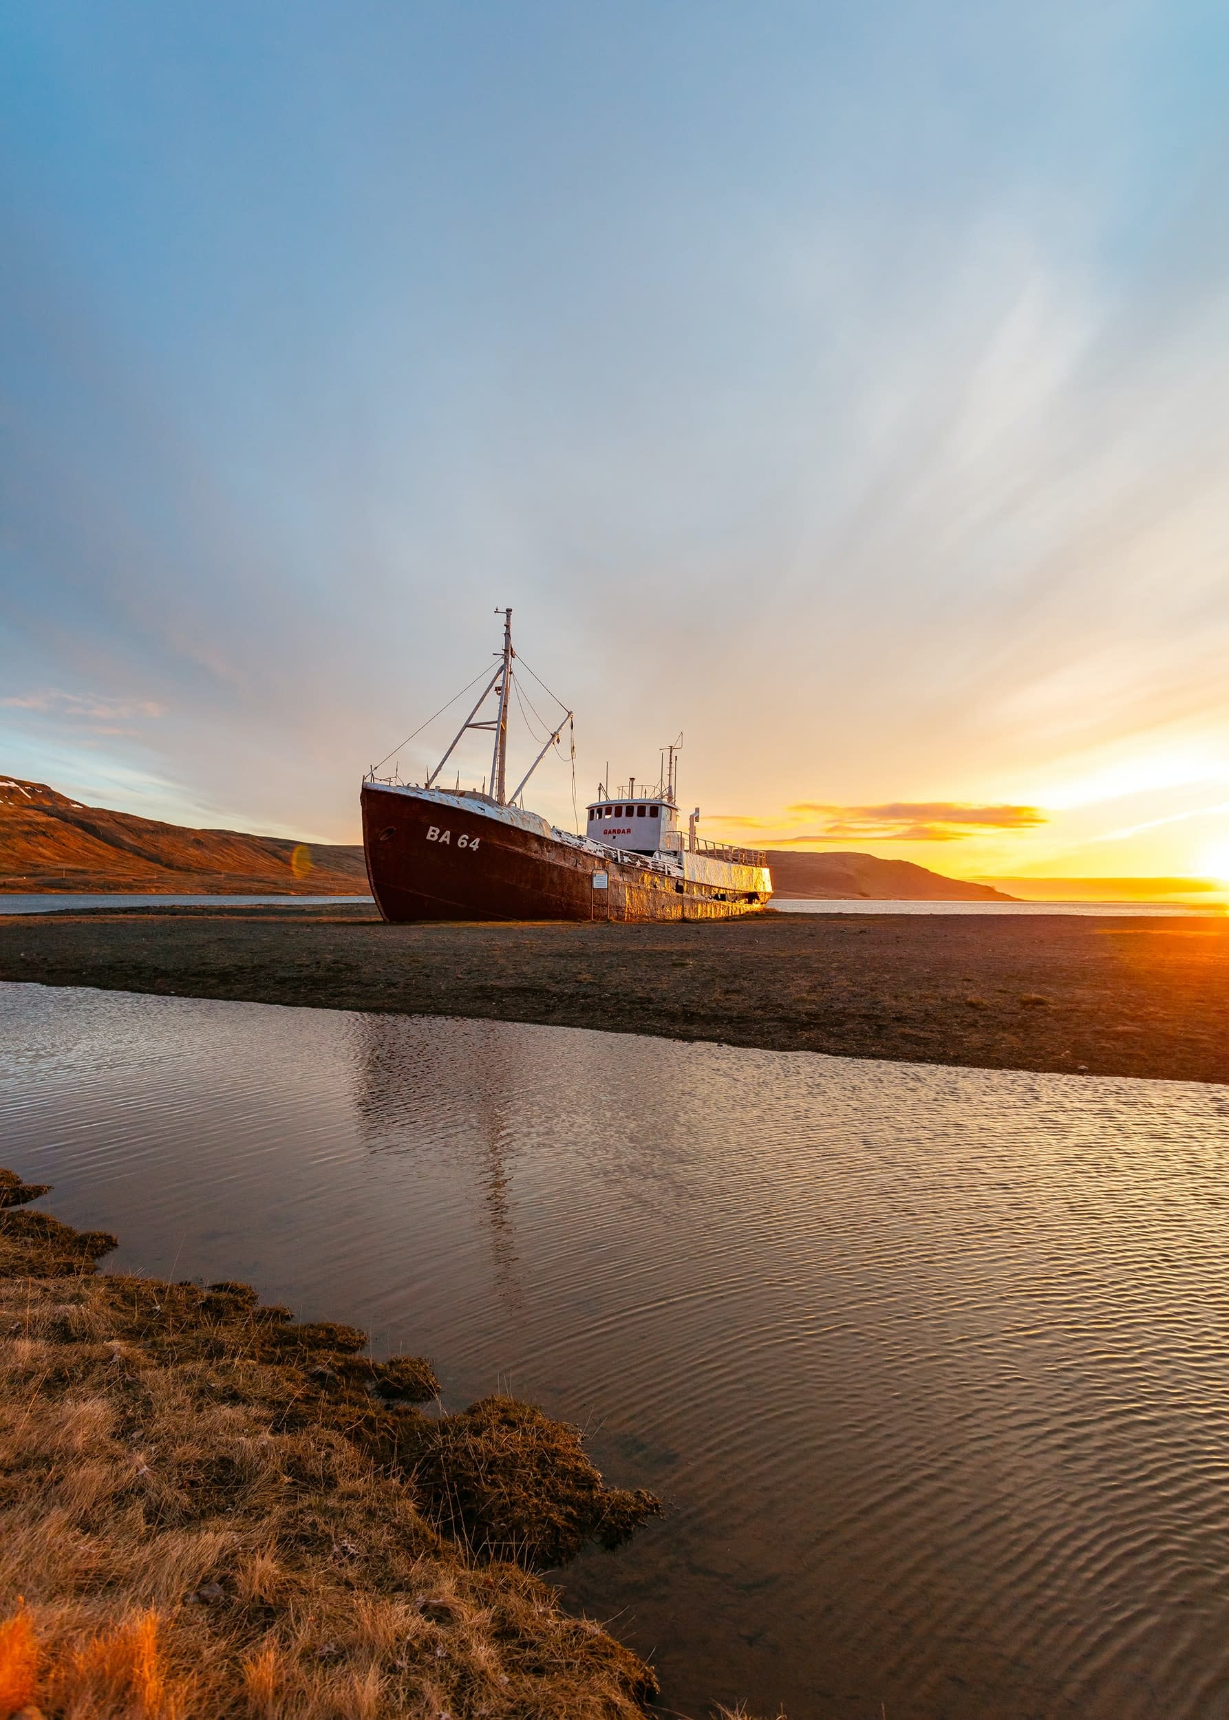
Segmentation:
{"type": "Polygon", "coordinates": [[[1222,915],[386,925],[361,903],[48,915],[0,903],[0,979],[1229,1082],[1222,915]]]}

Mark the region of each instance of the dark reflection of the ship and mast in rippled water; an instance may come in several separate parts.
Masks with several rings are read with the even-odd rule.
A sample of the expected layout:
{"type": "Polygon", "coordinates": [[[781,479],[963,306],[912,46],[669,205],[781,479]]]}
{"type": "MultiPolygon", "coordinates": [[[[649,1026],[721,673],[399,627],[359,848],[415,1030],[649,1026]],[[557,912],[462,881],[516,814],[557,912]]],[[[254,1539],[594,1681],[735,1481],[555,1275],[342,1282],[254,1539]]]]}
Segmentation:
{"type": "Polygon", "coordinates": [[[449,1166],[468,1168],[480,1190],[480,1219],[499,1300],[508,1311],[518,1309],[508,1111],[523,1070],[513,1066],[511,1046],[485,1022],[449,1023],[458,1037],[458,1032],[441,1034],[434,1018],[355,1015],[351,1020],[355,1104],[368,1151],[398,1159],[422,1156],[423,1170],[435,1168],[441,1130],[448,1133],[448,1144],[456,1149],[448,1154],[449,1166]],[[485,1042],[475,1044],[473,1037],[485,1042]],[[442,1118],[432,1103],[439,1092],[449,1094],[442,1118]]]}

